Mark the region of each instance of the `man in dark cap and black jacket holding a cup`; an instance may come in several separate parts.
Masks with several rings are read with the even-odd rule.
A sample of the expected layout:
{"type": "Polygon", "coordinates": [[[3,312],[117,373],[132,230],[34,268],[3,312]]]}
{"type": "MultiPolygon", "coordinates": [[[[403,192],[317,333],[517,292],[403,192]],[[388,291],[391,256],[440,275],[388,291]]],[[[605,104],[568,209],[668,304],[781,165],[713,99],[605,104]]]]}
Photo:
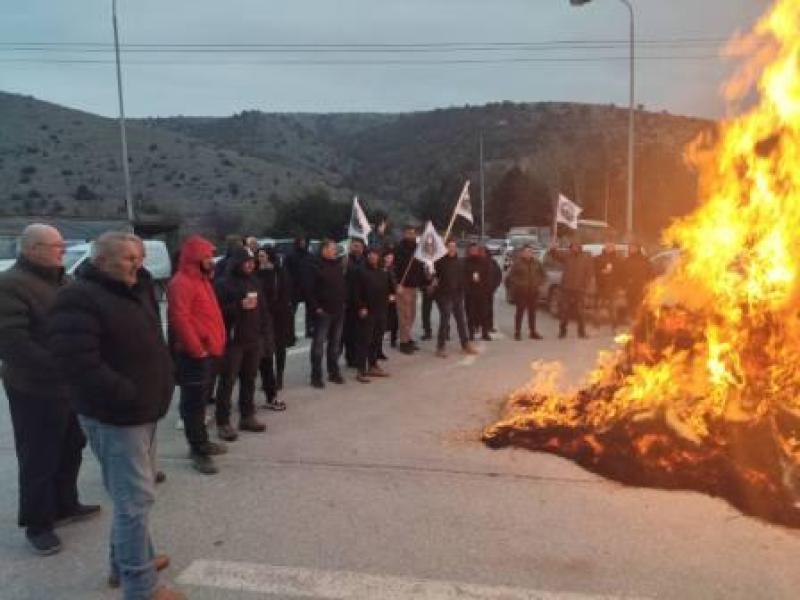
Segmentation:
{"type": "Polygon", "coordinates": [[[255,391],[264,339],[271,320],[258,279],[255,257],[247,248],[234,250],[221,283],[215,282],[227,345],[217,390],[217,435],[225,441],[238,437],[231,426],[231,396],[239,381],[239,430],[261,433],[267,426],[256,416],[255,391]]]}

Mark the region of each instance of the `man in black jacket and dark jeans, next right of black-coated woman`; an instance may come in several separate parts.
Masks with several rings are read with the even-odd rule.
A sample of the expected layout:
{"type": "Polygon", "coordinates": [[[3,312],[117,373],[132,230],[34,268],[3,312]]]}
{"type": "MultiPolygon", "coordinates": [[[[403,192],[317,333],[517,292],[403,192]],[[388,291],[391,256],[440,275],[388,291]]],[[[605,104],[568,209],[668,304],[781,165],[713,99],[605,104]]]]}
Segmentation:
{"type": "Polygon", "coordinates": [[[344,304],[347,299],[342,264],[336,259],[336,242],[325,240],[320,248],[320,261],[309,289],[307,304],[314,318],[314,339],[311,343],[311,385],[325,387],[322,381],[322,355],[327,355],[328,380],[344,383],[339,371],[342,345],[344,304]],[[325,347],[327,343],[327,348],[325,347]]]}

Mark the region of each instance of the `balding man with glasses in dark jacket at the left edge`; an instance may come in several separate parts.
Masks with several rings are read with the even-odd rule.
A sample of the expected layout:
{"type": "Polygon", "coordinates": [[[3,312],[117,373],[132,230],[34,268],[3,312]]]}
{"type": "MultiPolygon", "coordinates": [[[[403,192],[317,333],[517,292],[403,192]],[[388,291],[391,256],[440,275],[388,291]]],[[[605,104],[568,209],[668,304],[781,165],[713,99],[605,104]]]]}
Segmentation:
{"type": "Polygon", "coordinates": [[[78,502],[86,438],[46,344],[49,312],[65,283],[64,240],[34,224],[21,242],[17,262],[0,275],[0,360],[19,464],[18,523],[45,555],[61,549],[53,532],[59,519],[89,517],[100,507],[78,502]]]}

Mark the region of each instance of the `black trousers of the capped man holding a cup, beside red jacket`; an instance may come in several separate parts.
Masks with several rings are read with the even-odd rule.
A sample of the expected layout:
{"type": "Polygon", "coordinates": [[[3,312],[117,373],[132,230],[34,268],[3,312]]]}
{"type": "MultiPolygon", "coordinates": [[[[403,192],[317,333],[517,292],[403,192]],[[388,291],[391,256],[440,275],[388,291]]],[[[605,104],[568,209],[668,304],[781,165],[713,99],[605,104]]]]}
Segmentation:
{"type": "Polygon", "coordinates": [[[225,360],[219,377],[217,393],[217,425],[229,425],[233,386],[239,380],[239,414],[249,417],[255,413],[256,376],[261,361],[261,344],[231,345],[225,350],[225,360]]]}

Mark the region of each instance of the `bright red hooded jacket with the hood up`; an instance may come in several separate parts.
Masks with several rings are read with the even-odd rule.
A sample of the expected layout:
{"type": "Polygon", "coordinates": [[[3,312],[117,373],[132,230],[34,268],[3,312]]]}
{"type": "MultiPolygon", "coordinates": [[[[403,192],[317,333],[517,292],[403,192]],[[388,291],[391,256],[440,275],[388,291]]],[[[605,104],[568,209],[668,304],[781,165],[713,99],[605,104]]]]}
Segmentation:
{"type": "Polygon", "coordinates": [[[192,358],[222,356],[225,352],[225,324],[203,261],[211,258],[214,246],[192,236],[181,248],[178,271],[167,287],[167,316],[170,345],[192,358]]]}

